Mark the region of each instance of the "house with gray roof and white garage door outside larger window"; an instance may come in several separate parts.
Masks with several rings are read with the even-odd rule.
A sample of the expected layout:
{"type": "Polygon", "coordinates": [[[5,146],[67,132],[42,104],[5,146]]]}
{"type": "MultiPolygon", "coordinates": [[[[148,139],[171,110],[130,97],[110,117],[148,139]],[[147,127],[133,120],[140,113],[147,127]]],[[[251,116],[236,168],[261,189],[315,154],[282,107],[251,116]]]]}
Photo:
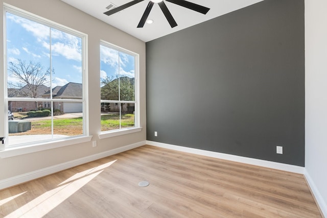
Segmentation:
{"type": "MultiPolygon", "coordinates": [[[[64,86],[56,86],[52,89],[53,99],[82,99],[82,84],[67,83],[64,86]]],[[[50,99],[50,90],[42,95],[44,99],[50,99]]],[[[44,108],[51,108],[50,102],[43,102],[44,108]]],[[[54,109],[59,109],[64,113],[82,112],[83,104],[81,102],[54,102],[54,109]]]]}

